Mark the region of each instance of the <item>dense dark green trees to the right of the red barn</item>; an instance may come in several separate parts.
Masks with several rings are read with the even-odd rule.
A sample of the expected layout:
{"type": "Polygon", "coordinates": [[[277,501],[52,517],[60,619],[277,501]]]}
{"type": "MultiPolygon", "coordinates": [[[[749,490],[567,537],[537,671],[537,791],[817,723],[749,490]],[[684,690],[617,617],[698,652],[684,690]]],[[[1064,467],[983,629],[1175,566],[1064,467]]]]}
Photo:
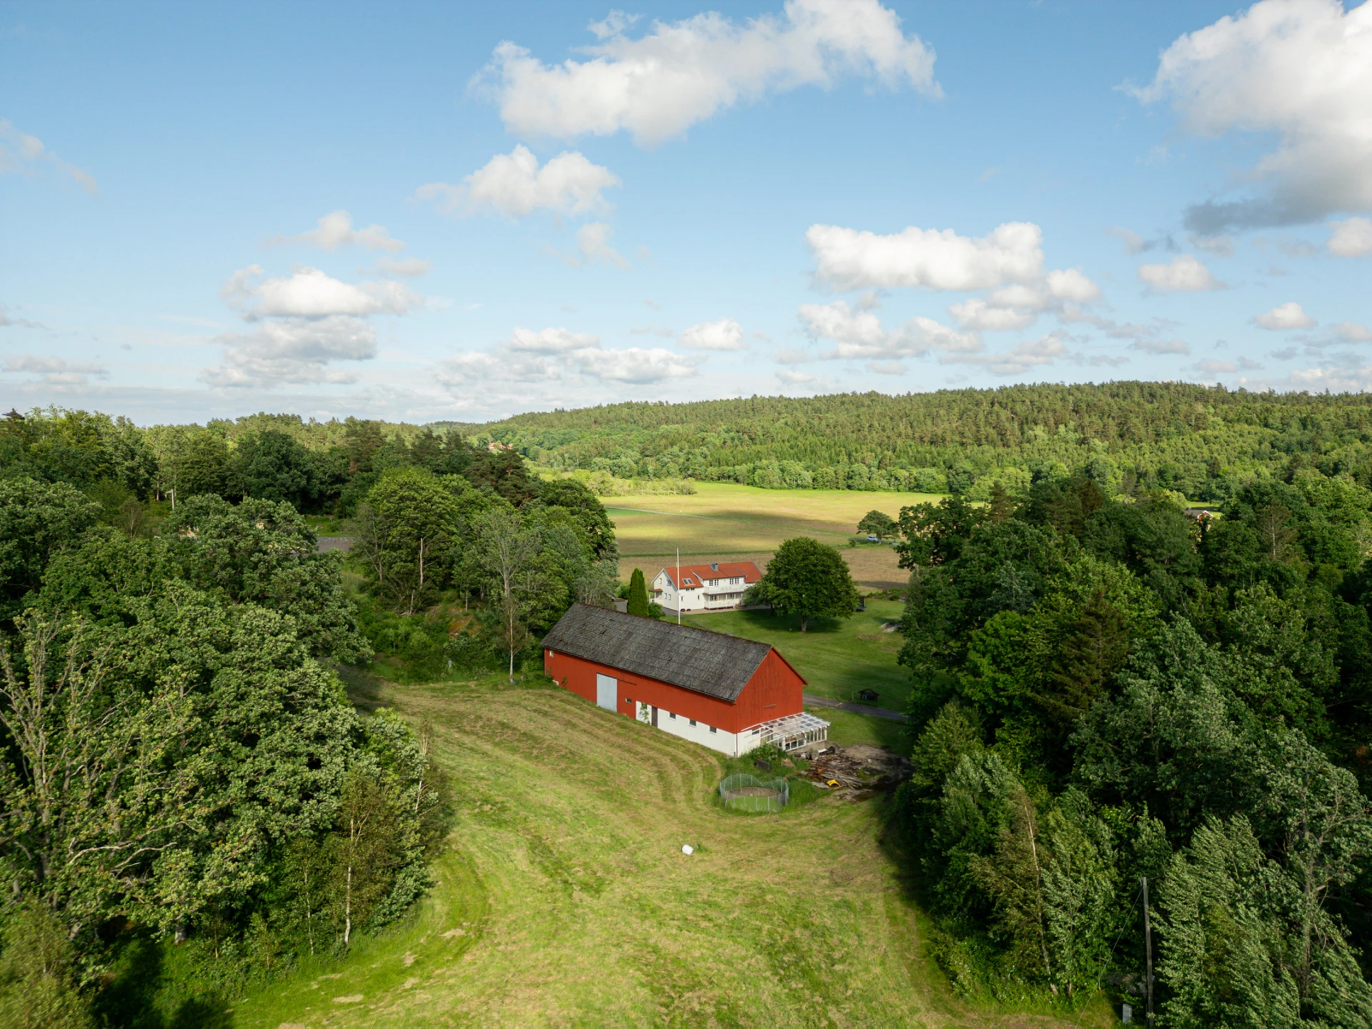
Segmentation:
{"type": "Polygon", "coordinates": [[[1162,1025],[1367,1026],[1372,493],[1194,520],[1078,471],[900,532],[899,819],[955,986],[1137,1006],[1147,877],[1162,1025]]]}

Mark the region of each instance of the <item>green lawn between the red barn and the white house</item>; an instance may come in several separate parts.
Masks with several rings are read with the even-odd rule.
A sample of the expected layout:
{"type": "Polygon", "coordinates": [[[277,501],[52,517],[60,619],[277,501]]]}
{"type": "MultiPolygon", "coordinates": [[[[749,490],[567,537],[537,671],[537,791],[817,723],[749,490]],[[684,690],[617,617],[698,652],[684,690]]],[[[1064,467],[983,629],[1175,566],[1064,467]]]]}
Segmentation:
{"type": "MultiPolygon", "coordinates": [[[[882,624],[900,622],[899,601],[867,601],[867,611],[851,619],[812,623],[801,632],[800,619],[766,611],[731,611],[686,616],[686,622],[716,632],[771,643],[805,678],[805,691],[834,700],[858,698],[858,690],[874,689],[878,704],[904,711],[910,672],[896,664],[904,642],[899,632],[882,632],[882,624]]],[[[904,726],[842,711],[814,708],[831,723],[830,738],[840,744],[874,744],[907,753],[904,726]]]]}

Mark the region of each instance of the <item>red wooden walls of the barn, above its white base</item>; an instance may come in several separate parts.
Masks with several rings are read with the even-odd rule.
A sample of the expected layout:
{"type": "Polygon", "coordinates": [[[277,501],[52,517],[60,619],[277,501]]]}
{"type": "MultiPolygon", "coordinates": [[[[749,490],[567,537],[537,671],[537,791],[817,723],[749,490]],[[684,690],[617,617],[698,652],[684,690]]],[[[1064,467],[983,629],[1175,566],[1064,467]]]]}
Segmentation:
{"type": "Polygon", "coordinates": [[[652,704],[654,708],[693,718],[726,733],[738,733],[782,715],[796,715],[804,707],[801,693],[805,681],[775,650],[767,652],[767,657],[757,665],[757,671],[733,704],[672,686],[670,682],[632,675],[606,664],[547,649],[543,650],[543,670],[591,704],[595,702],[597,674],[619,679],[619,713],[628,718],[637,715],[635,704],[652,704]]]}

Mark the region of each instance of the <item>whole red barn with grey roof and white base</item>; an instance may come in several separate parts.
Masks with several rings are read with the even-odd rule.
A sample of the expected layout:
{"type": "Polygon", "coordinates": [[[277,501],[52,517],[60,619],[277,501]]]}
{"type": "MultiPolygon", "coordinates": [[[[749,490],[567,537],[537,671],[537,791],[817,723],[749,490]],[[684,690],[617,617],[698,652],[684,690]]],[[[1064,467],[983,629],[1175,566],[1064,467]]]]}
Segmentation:
{"type": "Polygon", "coordinates": [[[731,756],[829,738],[805,681],[772,646],[573,604],[543,639],[553,679],[606,711],[731,756]]]}

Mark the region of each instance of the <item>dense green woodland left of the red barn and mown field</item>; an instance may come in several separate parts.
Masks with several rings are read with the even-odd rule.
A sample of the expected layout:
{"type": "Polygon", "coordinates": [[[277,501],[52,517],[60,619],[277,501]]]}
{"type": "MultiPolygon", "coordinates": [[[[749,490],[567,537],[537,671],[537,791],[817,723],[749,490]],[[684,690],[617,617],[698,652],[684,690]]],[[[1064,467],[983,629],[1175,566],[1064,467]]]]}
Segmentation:
{"type": "Polygon", "coordinates": [[[340,674],[384,650],[513,678],[573,600],[613,600],[576,482],[458,436],[246,421],[0,425],[0,1025],[218,1025],[384,932],[451,790],[427,729],[359,713],[340,674]],[[311,509],[351,516],[347,558],[311,509]]]}

